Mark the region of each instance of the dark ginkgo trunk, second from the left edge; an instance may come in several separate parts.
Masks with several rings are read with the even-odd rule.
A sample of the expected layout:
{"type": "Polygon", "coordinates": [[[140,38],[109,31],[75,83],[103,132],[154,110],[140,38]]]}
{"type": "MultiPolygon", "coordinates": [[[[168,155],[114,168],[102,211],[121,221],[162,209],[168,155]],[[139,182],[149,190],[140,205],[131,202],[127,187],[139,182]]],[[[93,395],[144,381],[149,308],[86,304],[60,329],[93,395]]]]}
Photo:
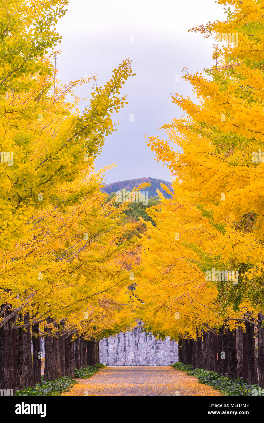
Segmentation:
{"type": "MultiPolygon", "coordinates": [[[[30,313],[25,313],[24,321],[30,320],[30,313]]],[[[32,354],[31,354],[31,333],[30,326],[23,334],[23,380],[25,387],[34,387],[32,354]]]]}

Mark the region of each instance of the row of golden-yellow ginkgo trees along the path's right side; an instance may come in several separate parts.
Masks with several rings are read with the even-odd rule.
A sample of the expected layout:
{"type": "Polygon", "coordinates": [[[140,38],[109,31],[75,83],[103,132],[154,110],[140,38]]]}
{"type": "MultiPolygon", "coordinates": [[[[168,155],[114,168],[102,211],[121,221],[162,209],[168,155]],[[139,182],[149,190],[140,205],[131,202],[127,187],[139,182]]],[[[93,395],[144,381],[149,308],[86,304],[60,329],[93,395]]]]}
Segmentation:
{"type": "MultiPolygon", "coordinates": [[[[218,41],[223,38],[232,41],[235,38],[232,34],[238,36],[238,40],[235,45],[229,42],[217,47],[217,53],[215,50],[213,55],[214,59],[217,56],[217,64],[212,69],[195,74],[189,74],[184,69],[184,79],[191,83],[196,94],[195,102],[173,93],[173,102],[181,107],[183,116],[173,119],[172,124],[163,126],[168,133],[168,141],[160,140],[159,137],[148,138],[148,145],[156,152],[157,159],[168,165],[176,179],[173,184],[173,198],[168,200],[168,204],[167,201],[162,201],[162,210],[154,217],[159,222],[159,217],[163,217],[162,213],[167,213],[166,219],[163,217],[160,221],[159,235],[150,227],[150,239],[144,236],[142,244],[146,269],[155,248],[162,251],[159,265],[155,269],[157,275],[154,277],[154,269],[150,266],[152,274],[150,279],[146,278],[148,282],[144,277],[140,279],[154,302],[152,308],[157,310],[157,317],[156,314],[151,316],[149,312],[143,314],[143,319],[147,325],[154,328],[156,326],[157,333],[173,334],[174,330],[178,336],[181,334],[193,337],[195,327],[199,328],[201,316],[204,330],[207,327],[216,333],[223,324],[233,331],[234,322],[241,324],[243,329],[245,325],[248,334],[253,333],[254,326],[258,326],[259,332],[262,330],[264,288],[261,151],[264,151],[264,80],[261,51],[264,41],[264,5],[263,1],[255,0],[220,0],[218,3],[227,6],[227,20],[209,22],[206,26],[192,30],[200,30],[205,36],[215,36],[218,41]],[[228,8],[228,5],[231,7],[228,8]],[[185,211],[184,216],[181,216],[181,208],[185,211]],[[195,222],[193,211],[195,217],[199,217],[199,224],[195,222]],[[183,226],[188,219],[191,226],[183,226]],[[167,221],[168,226],[165,223],[167,221]],[[177,222],[180,229],[184,227],[184,234],[180,234],[180,229],[174,228],[175,233],[180,234],[178,240],[174,240],[173,235],[168,233],[168,228],[174,226],[171,222],[177,222]],[[154,239],[151,237],[153,234],[154,239]],[[186,240],[187,235],[190,238],[186,240]],[[204,243],[204,236],[208,236],[208,244],[204,243]],[[160,239],[164,240],[163,244],[160,239]],[[149,244],[152,246],[151,250],[149,244]],[[152,253],[148,255],[150,251],[152,253]],[[177,273],[173,274],[174,263],[178,261],[177,273]],[[196,280],[199,277],[192,275],[192,269],[200,274],[200,283],[203,286],[203,301],[198,311],[195,310],[197,304],[192,290],[198,295],[196,280]],[[221,276],[220,279],[210,281],[206,279],[206,275],[209,272],[212,274],[213,269],[221,276]],[[225,273],[232,271],[237,275],[235,281],[231,278],[223,279],[223,272],[225,276],[225,273]],[[174,282],[174,295],[171,291],[173,285],[166,283],[166,278],[170,278],[170,275],[179,281],[174,282]],[[158,292],[154,291],[155,279],[158,292]],[[179,321],[167,321],[167,313],[171,316],[174,311],[179,312],[176,310],[179,305],[174,306],[178,298],[182,301],[182,315],[187,317],[179,321]],[[173,304],[171,311],[171,306],[168,308],[169,301],[173,304]],[[192,306],[188,315],[190,301],[192,306]],[[214,322],[211,320],[212,316],[217,316],[214,322]]],[[[144,265],[142,271],[144,275],[144,265]]],[[[253,349],[252,341],[248,344],[248,360],[251,370],[253,368],[249,375],[250,383],[257,381],[253,349]]],[[[262,360],[263,346],[259,347],[259,352],[262,360]]],[[[234,356],[234,352],[232,354],[234,356]]],[[[259,369],[262,385],[263,370],[263,367],[259,369]]]]}

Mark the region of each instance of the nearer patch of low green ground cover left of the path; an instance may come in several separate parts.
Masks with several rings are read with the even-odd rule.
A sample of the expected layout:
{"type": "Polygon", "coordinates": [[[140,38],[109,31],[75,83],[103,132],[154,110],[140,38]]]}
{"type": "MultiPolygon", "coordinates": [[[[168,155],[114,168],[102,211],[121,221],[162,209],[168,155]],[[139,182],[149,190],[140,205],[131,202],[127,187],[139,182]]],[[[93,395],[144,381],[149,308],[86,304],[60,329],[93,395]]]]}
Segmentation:
{"type": "Polygon", "coordinates": [[[51,382],[44,382],[43,376],[41,376],[41,379],[41,384],[37,383],[33,388],[24,388],[20,391],[16,391],[16,396],[56,396],[60,395],[64,391],[69,391],[75,383],[78,383],[76,380],[71,379],[68,376],[63,376],[60,379],[55,379],[51,382]]]}

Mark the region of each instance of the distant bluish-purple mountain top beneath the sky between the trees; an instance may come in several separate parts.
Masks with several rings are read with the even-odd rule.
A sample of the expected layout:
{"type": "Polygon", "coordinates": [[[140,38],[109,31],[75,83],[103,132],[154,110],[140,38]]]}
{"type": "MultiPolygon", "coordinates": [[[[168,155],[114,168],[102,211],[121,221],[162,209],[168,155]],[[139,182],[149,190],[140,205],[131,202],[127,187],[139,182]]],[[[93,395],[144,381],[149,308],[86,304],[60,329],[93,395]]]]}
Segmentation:
{"type": "Polygon", "coordinates": [[[168,181],[162,181],[162,179],[156,179],[156,178],[139,178],[139,179],[127,179],[126,181],[118,181],[118,182],[112,182],[112,184],[106,184],[103,188],[101,188],[102,192],[107,192],[107,194],[111,194],[111,192],[116,192],[119,190],[122,190],[125,188],[128,191],[132,191],[133,187],[138,187],[142,182],[150,182],[151,186],[144,188],[142,191],[148,191],[148,197],[156,197],[157,195],[157,189],[162,192],[165,198],[170,198],[171,196],[167,194],[164,190],[162,190],[162,187],[160,184],[166,185],[170,190],[171,182],[168,181]]]}

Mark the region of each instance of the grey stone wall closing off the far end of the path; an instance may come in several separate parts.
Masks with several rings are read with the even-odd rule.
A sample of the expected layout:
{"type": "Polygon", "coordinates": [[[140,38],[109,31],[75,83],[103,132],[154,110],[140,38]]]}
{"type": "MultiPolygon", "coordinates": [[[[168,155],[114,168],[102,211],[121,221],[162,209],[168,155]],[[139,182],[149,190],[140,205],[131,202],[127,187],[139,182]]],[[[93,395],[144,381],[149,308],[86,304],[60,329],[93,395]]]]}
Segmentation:
{"type": "Polygon", "coordinates": [[[178,343],[135,330],[100,341],[100,363],[107,366],[168,366],[178,361],[178,343]]]}

